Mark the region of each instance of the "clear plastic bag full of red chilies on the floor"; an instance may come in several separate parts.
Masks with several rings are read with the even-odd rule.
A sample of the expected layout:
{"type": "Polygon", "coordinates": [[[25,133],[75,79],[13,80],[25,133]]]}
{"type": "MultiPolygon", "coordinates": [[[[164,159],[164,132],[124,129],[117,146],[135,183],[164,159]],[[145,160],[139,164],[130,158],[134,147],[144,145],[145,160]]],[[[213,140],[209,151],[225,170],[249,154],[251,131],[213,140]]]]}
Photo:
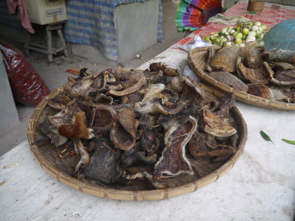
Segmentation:
{"type": "Polygon", "coordinates": [[[36,107],[50,93],[48,86],[16,47],[0,41],[0,50],[14,100],[36,107]]]}

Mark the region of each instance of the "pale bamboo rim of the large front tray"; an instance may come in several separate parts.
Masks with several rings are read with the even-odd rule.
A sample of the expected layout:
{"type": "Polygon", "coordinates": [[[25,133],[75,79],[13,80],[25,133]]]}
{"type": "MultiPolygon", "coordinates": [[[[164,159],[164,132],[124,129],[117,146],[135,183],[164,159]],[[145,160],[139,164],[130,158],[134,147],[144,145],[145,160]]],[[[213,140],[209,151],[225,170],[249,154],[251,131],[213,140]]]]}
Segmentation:
{"type": "MultiPolygon", "coordinates": [[[[35,156],[35,159],[40,163],[40,166],[45,169],[51,176],[57,179],[59,182],[62,182],[73,189],[79,190],[80,192],[84,192],[87,194],[91,194],[98,197],[103,197],[107,199],[117,199],[117,200],[133,200],[133,201],[141,201],[141,200],[155,200],[155,199],[168,199],[171,197],[180,196],[183,194],[187,194],[190,192],[194,192],[201,187],[204,187],[212,182],[218,180],[221,176],[226,174],[232,167],[236,164],[236,162],[240,159],[240,156],[243,154],[243,150],[245,147],[245,143],[248,138],[248,128],[247,124],[245,123],[242,114],[237,109],[236,106],[233,106],[231,112],[234,113],[235,117],[237,118],[238,125],[240,126],[240,133],[241,133],[241,140],[239,146],[237,147],[237,151],[232,157],[227,160],[222,166],[217,168],[216,170],[212,171],[211,173],[207,174],[200,179],[197,179],[193,182],[180,185],[177,187],[170,187],[164,189],[153,189],[153,190],[118,190],[112,189],[111,187],[99,187],[93,184],[89,184],[82,180],[78,180],[74,177],[71,177],[67,173],[61,171],[56,166],[50,163],[48,159],[42,154],[37,144],[31,145],[32,142],[36,139],[36,126],[38,119],[41,116],[42,111],[47,106],[47,100],[50,98],[54,98],[60,93],[63,93],[63,88],[68,85],[65,84],[60,88],[55,89],[49,95],[47,95],[43,100],[39,103],[39,105],[35,108],[32,113],[32,116],[29,120],[29,126],[27,131],[28,141],[30,145],[30,150],[32,154],[35,156]]],[[[208,87],[207,85],[198,83],[199,86],[204,88],[204,90],[212,93],[217,97],[224,96],[222,93],[214,90],[213,88],[208,87]]]]}

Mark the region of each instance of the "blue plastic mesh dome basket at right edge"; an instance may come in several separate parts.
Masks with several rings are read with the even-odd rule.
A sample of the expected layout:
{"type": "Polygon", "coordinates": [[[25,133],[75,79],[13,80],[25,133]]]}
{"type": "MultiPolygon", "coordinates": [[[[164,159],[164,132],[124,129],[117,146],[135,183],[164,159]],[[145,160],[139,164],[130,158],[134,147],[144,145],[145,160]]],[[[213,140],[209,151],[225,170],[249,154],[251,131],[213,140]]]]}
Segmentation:
{"type": "Polygon", "coordinates": [[[295,19],[273,26],[263,37],[266,51],[273,48],[295,51],[295,19]]]}

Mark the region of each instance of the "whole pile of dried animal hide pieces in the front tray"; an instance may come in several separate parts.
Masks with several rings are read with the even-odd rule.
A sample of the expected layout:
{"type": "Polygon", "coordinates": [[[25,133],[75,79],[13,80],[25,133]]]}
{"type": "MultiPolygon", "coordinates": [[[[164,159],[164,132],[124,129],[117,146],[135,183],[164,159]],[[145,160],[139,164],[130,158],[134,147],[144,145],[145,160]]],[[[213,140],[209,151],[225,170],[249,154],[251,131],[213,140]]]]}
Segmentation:
{"type": "Polygon", "coordinates": [[[188,155],[218,160],[235,153],[234,93],[209,102],[194,81],[161,62],[145,71],[86,70],[48,100],[60,112],[40,124],[54,146],[65,147],[61,158],[79,157],[74,177],[122,185],[146,179],[165,188],[164,174],[194,173],[188,155]],[[131,166],[148,169],[131,173],[131,166]]]}

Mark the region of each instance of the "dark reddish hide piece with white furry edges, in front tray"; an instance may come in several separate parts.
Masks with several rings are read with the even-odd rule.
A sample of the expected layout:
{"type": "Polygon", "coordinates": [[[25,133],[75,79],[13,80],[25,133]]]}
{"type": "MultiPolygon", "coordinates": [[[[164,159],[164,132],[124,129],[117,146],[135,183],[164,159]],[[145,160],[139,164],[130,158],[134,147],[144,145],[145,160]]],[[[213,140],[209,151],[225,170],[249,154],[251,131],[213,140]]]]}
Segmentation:
{"type": "Polygon", "coordinates": [[[188,121],[179,126],[172,126],[165,134],[165,148],[155,165],[158,175],[193,174],[193,169],[185,153],[185,145],[196,131],[197,121],[189,117],[188,121]]]}

